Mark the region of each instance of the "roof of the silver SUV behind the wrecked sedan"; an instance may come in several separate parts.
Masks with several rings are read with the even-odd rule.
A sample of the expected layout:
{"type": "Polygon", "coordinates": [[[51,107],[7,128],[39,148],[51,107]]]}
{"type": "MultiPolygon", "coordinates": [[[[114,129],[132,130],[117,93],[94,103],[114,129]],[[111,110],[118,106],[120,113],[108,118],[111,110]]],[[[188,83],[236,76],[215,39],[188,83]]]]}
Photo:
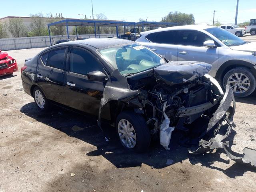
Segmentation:
{"type": "Polygon", "coordinates": [[[150,31],[141,32],[140,34],[150,34],[153,32],[168,31],[168,30],[190,30],[190,29],[204,30],[204,29],[214,28],[214,27],[215,26],[210,26],[210,25],[182,25],[182,26],[154,29],[154,30],[150,30],[150,31]]]}

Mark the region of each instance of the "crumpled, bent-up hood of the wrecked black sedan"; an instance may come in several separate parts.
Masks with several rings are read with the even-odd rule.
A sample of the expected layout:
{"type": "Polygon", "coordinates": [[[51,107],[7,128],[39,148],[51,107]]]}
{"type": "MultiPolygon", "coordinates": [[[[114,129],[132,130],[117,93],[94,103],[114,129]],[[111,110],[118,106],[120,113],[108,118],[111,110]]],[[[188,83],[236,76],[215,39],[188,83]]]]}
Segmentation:
{"type": "Polygon", "coordinates": [[[204,76],[211,67],[210,64],[203,62],[172,61],[154,68],[154,76],[165,84],[180,84],[204,76]]]}

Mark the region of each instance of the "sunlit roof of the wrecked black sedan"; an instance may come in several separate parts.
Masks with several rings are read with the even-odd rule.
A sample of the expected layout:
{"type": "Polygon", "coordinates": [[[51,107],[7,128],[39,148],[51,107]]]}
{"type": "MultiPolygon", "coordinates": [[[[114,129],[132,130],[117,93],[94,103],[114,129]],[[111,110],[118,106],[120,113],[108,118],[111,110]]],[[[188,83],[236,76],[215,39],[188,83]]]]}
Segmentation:
{"type": "Polygon", "coordinates": [[[120,44],[128,44],[128,43],[134,43],[130,40],[124,40],[124,39],[118,39],[118,38],[90,38],[90,39],[84,39],[84,40],[78,40],[78,41],[69,41],[64,42],[62,45],[69,44],[69,45],[78,45],[78,44],[84,44],[84,45],[90,45],[93,46],[96,49],[109,47],[109,46],[116,46],[120,44]]]}

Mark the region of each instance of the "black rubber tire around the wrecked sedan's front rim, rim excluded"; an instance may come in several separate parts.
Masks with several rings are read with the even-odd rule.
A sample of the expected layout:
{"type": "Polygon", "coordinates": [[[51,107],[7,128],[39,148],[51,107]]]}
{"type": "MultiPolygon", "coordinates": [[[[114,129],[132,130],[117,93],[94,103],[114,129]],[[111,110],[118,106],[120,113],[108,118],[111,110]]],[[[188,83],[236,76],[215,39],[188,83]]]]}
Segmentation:
{"type": "Polygon", "coordinates": [[[121,112],[116,118],[116,133],[120,140],[120,143],[124,148],[133,150],[135,152],[145,152],[150,145],[150,132],[145,119],[140,115],[130,111],[121,112]],[[121,140],[118,133],[118,123],[120,120],[128,120],[134,128],[136,134],[136,144],[133,148],[128,148],[121,140]]]}

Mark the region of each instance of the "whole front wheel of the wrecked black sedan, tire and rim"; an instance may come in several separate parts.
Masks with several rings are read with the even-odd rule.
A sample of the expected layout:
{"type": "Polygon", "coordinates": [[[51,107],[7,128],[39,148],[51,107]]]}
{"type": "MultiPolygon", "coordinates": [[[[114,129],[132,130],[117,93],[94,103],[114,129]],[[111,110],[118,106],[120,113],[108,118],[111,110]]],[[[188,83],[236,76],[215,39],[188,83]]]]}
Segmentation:
{"type": "Polygon", "coordinates": [[[150,145],[148,125],[140,114],[121,112],[116,119],[116,132],[122,146],[128,150],[145,152],[150,145]]]}

